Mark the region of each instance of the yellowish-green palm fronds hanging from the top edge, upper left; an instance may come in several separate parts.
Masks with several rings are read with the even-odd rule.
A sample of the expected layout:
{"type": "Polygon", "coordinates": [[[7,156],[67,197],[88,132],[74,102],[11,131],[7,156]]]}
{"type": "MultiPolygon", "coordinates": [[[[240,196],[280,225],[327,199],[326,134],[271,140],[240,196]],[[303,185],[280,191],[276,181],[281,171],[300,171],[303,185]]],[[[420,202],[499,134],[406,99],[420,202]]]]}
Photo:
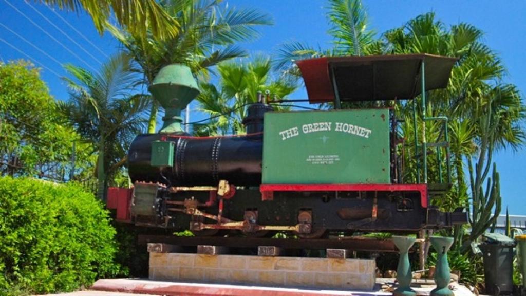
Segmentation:
{"type": "Polygon", "coordinates": [[[156,0],[35,0],[58,6],[66,11],[78,12],[83,8],[93,19],[95,28],[102,34],[109,24],[110,15],[120,26],[136,35],[151,33],[164,39],[179,33],[179,23],[171,18],[156,0]]]}

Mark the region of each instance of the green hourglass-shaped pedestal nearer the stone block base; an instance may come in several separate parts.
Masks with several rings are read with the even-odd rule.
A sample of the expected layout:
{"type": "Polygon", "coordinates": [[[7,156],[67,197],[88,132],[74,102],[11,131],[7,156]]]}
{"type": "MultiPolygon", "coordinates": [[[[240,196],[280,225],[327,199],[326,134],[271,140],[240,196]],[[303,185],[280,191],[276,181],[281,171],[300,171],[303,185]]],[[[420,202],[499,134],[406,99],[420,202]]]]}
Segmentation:
{"type": "Polygon", "coordinates": [[[400,251],[400,260],[398,261],[398,268],[396,270],[396,279],[398,281],[398,288],[393,291],[395,296],[415,296],[417,292],[410,288],[411,279],[411,265],[409,264],[409,249],[416,241],[415,238],[408,236],[393,236],[393,242],[400,251]]]}

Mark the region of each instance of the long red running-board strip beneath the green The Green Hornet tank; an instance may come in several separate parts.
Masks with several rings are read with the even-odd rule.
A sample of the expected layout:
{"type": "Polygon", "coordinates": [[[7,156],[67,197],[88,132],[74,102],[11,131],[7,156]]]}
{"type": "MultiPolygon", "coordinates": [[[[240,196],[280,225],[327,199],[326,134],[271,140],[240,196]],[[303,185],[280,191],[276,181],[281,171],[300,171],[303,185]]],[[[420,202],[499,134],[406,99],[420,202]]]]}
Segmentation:
{"type": "Polygon", "coordinates": [[[423,208],[428,207],[426,184],[262,184],[264,196],[274,191],[418,191],[423,208]]]}

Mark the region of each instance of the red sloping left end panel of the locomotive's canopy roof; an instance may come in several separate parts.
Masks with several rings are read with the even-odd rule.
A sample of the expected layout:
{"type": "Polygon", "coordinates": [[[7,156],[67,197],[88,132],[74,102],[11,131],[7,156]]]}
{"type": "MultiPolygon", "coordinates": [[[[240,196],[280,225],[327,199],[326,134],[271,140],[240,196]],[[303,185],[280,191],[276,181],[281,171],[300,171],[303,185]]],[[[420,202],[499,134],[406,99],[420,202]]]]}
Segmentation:
{"type": "Polygon", "coordinates": [[[334,90],[330,80],[327,57],[301,60],[296,64],[301,71],[311,104],[334,101],[334,90]]]}

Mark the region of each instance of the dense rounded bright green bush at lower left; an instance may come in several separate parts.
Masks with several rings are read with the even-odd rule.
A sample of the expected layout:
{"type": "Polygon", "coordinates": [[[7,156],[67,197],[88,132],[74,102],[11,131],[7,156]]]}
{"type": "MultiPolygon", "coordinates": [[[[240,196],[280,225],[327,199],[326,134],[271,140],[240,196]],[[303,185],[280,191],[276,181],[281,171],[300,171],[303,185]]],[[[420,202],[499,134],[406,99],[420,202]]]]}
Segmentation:
{"type": "Polygon", "coordinates": [[[0,294],[71,291],[117,274],[114,235],[80,186],[0,177],[0,294]]]}

